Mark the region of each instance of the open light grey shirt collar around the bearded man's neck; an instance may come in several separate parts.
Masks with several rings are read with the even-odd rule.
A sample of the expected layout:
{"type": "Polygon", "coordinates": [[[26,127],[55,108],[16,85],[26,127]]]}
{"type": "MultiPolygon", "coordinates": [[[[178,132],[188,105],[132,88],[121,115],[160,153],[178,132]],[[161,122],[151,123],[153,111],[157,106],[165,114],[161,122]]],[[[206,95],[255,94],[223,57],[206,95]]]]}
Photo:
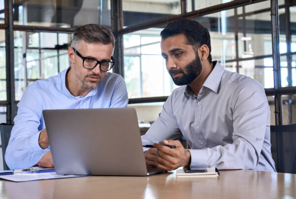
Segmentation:
{"type": "MultiPolygon", "coordinates": [[[[218,61],[213,61],[213,65],[214,69],[212,70],[202,87],[207,87],[217,93],[222,75],[224,73],[224,69],[218,61]]],[[[186,85],[184,95],[187,99],[195,95],[189,85],[186,85]]]]}

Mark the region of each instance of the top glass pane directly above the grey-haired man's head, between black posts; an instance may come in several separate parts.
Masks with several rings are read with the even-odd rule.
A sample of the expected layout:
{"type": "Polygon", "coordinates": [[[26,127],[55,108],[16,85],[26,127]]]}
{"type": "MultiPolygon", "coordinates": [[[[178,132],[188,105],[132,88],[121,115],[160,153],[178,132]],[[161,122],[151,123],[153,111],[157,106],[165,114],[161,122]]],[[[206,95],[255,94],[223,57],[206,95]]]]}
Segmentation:
{"type": "Polygon", "coordinates": [[[13,0],[14,24],[72,28],[111,26],[110,0],[13,0]],[[102,7],[101,7],[102,5],[102,7]],[[102,10],[102,12],[100,12],[102,10]]]}

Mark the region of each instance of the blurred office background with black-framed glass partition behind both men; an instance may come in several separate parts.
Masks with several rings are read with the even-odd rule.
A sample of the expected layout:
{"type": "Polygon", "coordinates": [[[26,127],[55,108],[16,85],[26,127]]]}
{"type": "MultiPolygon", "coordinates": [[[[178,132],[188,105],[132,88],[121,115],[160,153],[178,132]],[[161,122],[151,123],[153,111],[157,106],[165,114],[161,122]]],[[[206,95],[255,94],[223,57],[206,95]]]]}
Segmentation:
{"type": "Polygon", "coordinates": [[[181,17],[208,28],[213,60],[261,83],[271,124],[296,123],[296,0],[0,0],[0,122],[13,123],[29,84],[69,67],[74,29],[95,23],[112,29],[113,72],[148,128],[177,87],[159,34],[181,17]]]}

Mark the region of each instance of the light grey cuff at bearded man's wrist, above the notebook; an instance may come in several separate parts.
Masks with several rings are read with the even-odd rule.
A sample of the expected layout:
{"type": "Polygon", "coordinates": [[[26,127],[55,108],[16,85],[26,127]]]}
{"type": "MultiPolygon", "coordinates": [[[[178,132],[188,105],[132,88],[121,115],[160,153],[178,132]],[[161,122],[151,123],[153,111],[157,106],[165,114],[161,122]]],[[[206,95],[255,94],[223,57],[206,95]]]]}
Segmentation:
{"type": "Polygon", "coordinates": [[[208,156],[206,149],[188,149],[191,154],[190,168],[207,168],[208,156]]]}

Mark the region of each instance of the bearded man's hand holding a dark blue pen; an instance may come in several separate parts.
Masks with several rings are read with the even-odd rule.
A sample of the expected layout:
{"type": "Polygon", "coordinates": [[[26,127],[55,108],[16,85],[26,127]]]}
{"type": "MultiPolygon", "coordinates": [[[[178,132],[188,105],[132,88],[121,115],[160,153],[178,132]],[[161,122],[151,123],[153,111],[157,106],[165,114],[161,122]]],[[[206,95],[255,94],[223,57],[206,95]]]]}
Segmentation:
{"type": "Polygon", "coordinates": [[[174,145],[176,148],[169,148],[165,145],[154,143],[153,146],[157,149],[155,162],[156,167],[162,170],[171,171],[180,166],[189,166],[191,155],[186,150],[179,140],[163,140],[165,145],[174,145]]]}

